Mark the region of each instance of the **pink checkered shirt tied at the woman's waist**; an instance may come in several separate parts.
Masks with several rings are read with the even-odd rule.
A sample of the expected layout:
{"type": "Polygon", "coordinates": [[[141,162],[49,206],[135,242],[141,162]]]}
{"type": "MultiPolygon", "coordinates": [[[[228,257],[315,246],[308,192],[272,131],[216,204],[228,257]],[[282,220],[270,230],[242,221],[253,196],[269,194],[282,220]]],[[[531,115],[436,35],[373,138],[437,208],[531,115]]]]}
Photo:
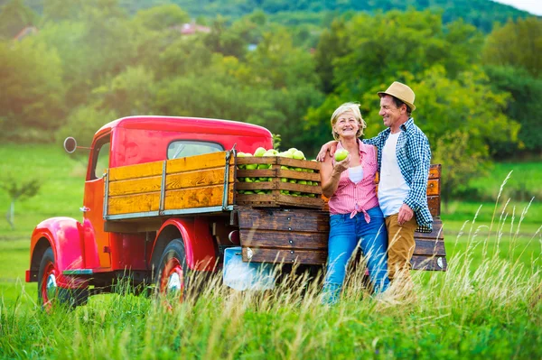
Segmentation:
{"type": "MultiPolygon", "coordinates": [[[[350,218],[358,213],[363,213],[369,223],[370,217],[367,210],[378,207],[375,174],[378,171],[377,149],[373,145],[358,142],[360,144],[361,166],[363,167],[363,179],[357,184],[353,183],[348,171],[342,171],[339,187],[330,198],[330,214],[349,214],[350,218]]],[[[341,143],[337,144],[337,150],[341,149],[341,143]]],[[[333,160],[333,165],[335,161],[333,160]]],[[[358,164],[350,164],[358,166],[358,164]]]]}

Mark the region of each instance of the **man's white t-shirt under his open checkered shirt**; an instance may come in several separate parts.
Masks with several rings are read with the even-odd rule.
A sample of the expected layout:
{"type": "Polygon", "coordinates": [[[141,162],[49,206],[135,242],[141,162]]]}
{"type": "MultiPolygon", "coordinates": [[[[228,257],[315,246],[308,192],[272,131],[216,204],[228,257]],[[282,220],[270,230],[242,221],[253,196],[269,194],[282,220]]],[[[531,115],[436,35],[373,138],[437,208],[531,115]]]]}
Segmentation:
{"type": "Polygon", "coordinates": [[[378,202],[384,217],[397,214],[408,195],[410,187],[406,184],[399,163],[397,162],[397,134],[389,134],[388,140],[382,149],[382,162],[380,165],[380,181],[378,183],[378,202]]]}

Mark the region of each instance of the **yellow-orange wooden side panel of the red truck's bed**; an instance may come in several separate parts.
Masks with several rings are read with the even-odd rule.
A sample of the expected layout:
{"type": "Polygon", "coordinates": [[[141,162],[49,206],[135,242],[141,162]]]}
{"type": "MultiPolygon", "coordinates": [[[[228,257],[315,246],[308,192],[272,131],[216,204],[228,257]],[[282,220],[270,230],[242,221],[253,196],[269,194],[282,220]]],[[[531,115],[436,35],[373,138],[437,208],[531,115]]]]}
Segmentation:
{"type": "Polygon", "coordinates": [[[104,217],[154,217],[168,211],[233,206],[235,158],[229,158],[225,194],[226,154],[212,152],[109,169],[104,217]]]}

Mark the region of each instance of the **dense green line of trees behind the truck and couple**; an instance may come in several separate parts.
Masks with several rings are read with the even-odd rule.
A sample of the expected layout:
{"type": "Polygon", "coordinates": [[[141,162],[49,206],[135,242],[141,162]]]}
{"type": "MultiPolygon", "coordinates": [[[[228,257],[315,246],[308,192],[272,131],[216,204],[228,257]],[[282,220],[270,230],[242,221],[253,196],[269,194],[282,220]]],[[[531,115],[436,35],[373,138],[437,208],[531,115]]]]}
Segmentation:
{"type": "Polygon", "coordinates": [[[0,12],[0,34],[16,16],[41,23],[0,41],[2,141],[70,134],[88,144],[117,117],[187,115],[263,125],[286,148],[315,154],[343,102],[360,102],[368,136],[382,130],[376,93],[399,80],[416,92],[413,115],[445,165],[449,194],[492,159],[542,150],[537,17],[485,33],[431,10],[350,12],[311,27],[255,11],[182,34],[178,25],[193,19],[178,5],[135,14],[116,0],[44,5],[38,15],[12,0],[0,12]]]}

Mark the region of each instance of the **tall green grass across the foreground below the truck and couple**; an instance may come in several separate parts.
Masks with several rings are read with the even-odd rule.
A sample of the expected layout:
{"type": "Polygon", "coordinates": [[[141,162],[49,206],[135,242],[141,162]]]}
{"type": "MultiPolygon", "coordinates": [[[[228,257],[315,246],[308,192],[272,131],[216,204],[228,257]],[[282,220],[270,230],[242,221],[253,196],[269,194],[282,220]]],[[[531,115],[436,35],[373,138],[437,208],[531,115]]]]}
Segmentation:
{"type": "MultiPolygon", "coordinates": [[[[276,290],[233,291],[220,275],[183,303],[129,287],[75,311],[0,302],[0,356],[15,358],[540,358],[542,259],[502,259],[499,236],[477,236],[447,272],[414,272],[416,297],[372,297],[353,272],[336,306],[320,282],[286,276],[276,290]],[[482,254],[481,261],[475,254],[482,254]],[[474,263],[474,264],[473,264],[474,263]]],[[[517,223],[519,226],[519,222],[517,223]]],[[[500,225],[500,224],[498,224],[500,225]]],[[[460,236],[464,235],[459,235],[460,236]]],[[[524,246],[518,239],[510,246],[524,246]]],[[[540,243],[539,231],[532,241],[540,243]]],[[[542,245],[542,243],[540,243],[542,245]]]]}

